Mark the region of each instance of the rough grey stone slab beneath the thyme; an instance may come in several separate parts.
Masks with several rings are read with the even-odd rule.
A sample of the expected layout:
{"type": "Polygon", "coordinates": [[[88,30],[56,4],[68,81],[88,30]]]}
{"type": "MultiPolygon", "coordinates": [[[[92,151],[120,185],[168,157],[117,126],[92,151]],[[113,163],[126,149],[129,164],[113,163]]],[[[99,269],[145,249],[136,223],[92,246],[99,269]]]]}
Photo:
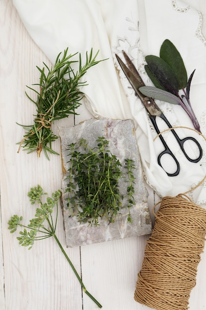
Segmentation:
{"type": "MultiPolygon", "coordinates": [[[[67,246],[83,246],[150,234],[152,232],[152,224],[133,121],[130,119],[120,120],[110,118],[88,119],[71,128],[58,127],[58,130],[61,138],[62,170],[64,173],[62,179],[62,210],[67,246]],[[127,222],[127,208],[122,208],[122,214],[117,216],[114,223],[108,224],[105,220],[100,219],[98,226],[88,226],[87,223],[80,224],[76,216],[70,217],[66,193],[68,186],[66,176],[70,164],[68,162],[68,145],[84,138],[88,141],[89,147],[93,148],[96,146],[96,139],[98,137],[105,137],[109,141],[109,150],[113,155],[117,156],[121,163],[126,158],[135,161],[136,167],[133,171],[134,177],[136,178],[134,184],[135,205],[130,208],[132,223],[127,222]]],[[[119,186],[120,192],[125,194],[125,181],[120,181],[119,186]]]]}

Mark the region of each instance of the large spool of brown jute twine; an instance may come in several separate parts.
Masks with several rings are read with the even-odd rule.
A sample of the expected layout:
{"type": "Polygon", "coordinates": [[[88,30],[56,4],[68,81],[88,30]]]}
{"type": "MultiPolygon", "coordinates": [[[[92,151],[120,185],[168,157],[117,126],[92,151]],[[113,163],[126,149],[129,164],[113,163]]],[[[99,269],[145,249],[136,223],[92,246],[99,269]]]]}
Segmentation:
{"type": "Polygon", "coordinates": [[[206,209],[186,196],[195,188],[176,197],[166,196],[153,207],[155,226],[134,293],[140,304],[156,310],[188,309],[206,237],[206,209]]]}

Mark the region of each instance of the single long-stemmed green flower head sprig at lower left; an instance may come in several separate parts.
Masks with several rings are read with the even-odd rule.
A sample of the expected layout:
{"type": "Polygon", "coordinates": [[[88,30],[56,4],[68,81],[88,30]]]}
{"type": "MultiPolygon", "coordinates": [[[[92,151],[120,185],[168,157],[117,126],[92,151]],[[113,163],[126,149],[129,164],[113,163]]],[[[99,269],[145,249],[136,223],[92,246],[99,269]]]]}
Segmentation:
{"type": "MultiPolygon", "coordinates": [[[[99,307],[102,308],[100,303],[86,290],[81,277],[79,276],[77,270],[75,269],[72,261],[67,256],[66,252],[64,251],[60,241],[56,236],[56,224],[57,224],[57,216],[58,216],[58,202],[61,198],[61,191],[55,191],[52,193],[51,197],[47,197],[46,202],[42,201],[42,196],[47,195],[43,193],[43,190],[40,185],[31,188],[28,196],[30,197],[30,202],[32,205],[35,203],[39,204],[40,207],[36,209],[35,218],[30,220],[30,224],[27,226],[21,224],[23,219],[22,216],[13,215],[10,220],[8,221],[8,229],[10,229],[11,233],[14,233],[17,230],[17,227],[23,227],[24,229],[19,232],[20,236],[17,237],[19,244],[23,247],[29,247],[28,249],[31,250],[34,242],[36,240],[42,240],[49,237],[54,237],[55,241],[57,242],[58,246],[60,247],[62,253],[64,254],[65,258],[69,262],[70,266],[72,267],[75,275],[77,276],[80,284],[82,285],[82,290],[87,294],[91,300],[99,307]],[[52,212],[54,207],[56,207],[56,215],[53,219],[52,212]],[[48,228],[45,227],[44,221],[47,222],[48,228]]],[[[47,225],[46,225],[47,226],[47,225]]]]}

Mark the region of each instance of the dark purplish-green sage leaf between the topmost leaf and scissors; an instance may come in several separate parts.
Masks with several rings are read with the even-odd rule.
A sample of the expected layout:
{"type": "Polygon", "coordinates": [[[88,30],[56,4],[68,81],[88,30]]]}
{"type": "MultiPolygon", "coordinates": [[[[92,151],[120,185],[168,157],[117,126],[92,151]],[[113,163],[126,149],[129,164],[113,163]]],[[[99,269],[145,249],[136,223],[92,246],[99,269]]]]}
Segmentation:
{"type": "Polygon", "coordinates": [[[152,74],[165,90],[176,95],[179,91],[179,82],[176,78],[176,74],[172,71],[165,60],[155,55],[148,55],[145,57],[145,60],[147,61],[152,74]]]}

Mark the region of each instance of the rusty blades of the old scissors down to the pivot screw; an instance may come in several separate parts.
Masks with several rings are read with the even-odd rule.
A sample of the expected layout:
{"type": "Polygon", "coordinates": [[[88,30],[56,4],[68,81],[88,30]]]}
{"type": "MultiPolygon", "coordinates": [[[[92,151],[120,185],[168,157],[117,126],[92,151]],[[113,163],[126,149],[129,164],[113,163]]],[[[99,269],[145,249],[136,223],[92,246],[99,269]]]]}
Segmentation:
{"type": "Polygon", "coordinates": [[[147,96],[143,95],[139,91],[139,87],[145,86],[145,84],[142,81],[142,78],[140,77],[137,69],[134,67],[133,63],[131,62],[131,60],[129,59],[127,54],[125,52],[123,52],[123,54],[124,54],[124,58],[125,58],[126,63],[127,63],[129,68],[127,68],[127,66],[124,64],[122,59],[117,54],[116,54],[116,58],[120,64],[127,80],[129,81],[130,85],[134,89],[135,93],[138,95],[141,102],[144,104],[144,106],[145,106],[147,112],[150,114],[150,116],[161,116],[162,111],[159,108],[159,106],[154,102],[154,100],[152,98],[148,98],[147,96]]]}

